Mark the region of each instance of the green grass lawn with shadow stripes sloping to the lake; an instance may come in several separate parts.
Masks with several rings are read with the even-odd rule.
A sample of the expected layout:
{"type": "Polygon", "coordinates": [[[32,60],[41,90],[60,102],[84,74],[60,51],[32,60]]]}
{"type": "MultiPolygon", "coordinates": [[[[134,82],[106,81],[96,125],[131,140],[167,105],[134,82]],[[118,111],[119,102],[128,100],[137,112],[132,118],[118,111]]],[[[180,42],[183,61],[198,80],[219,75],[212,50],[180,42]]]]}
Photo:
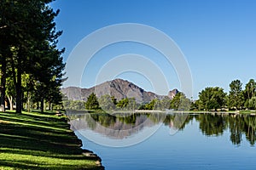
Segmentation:
{"type": "Polygon", "coordinates": [[[0,170],[102,169],[80,144],[65,116],[0,112],[0,170]]]}

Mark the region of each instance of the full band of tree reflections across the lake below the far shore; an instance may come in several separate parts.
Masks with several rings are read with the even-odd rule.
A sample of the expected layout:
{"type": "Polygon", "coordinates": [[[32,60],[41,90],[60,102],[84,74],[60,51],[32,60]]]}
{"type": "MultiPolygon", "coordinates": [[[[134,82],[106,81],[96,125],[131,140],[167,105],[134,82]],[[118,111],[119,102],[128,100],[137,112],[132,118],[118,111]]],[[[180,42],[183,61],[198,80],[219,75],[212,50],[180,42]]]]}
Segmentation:
{"type": "Polygon", "coordinates": [[[220,136],[223,135],[225,130],[229,130],[232,144],[240,145],[243,135],[251,145],[254,145],[256,141],[256,116],[250,115],[206,113],[182,116],[181,113],[172,115],[166,115],[165,113],[126,113],[117,115],[87,113],[71,114],[69,118],[72,122],[71,124],[75,123],[76,128],[89,127],[91,130],[95,130],[98,125],[114,130],[131,130],[134,128],[127,135],[137,133],[143,130],[143,127],[152,127],[160,123],[183,131],[189,122],[195,120],[199,122],[199,128],[203,135],[220,136]],[[84,122],[81,122],[81,120],[84,122]]]}

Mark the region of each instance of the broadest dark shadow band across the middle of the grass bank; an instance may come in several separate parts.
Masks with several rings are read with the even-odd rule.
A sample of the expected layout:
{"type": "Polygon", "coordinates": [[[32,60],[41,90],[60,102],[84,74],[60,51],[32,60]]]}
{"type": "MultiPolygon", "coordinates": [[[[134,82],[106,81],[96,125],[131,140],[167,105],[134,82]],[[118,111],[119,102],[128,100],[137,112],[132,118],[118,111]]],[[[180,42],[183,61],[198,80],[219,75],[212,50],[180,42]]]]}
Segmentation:
{"type": "Polygon", "coordinates": [[[77,154],[80,141],[72,131],[60,132],[42,127],[27,127],[0,123],[0,146],[16,149],[53,151],[58,154],[77,154]]]}

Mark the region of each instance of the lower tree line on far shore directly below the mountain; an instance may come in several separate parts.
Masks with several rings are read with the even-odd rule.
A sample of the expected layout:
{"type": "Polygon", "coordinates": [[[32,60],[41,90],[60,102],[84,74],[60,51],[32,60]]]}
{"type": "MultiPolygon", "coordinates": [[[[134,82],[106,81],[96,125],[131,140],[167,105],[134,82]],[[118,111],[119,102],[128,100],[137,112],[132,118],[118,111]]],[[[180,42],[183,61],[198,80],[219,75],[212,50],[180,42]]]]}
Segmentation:
{"type": "Polygon", "coordinates": [[[123,110],[123,111],[134,111],[134,110],[154,110],[154,111],[166,111],[169,109],[177,111],[189,111],[191,101],[186,98],[185,94],[177,93],[173,99],[164,97],[163,99],[153,99],[149,103],[139,104],[135,98],[124,98],[119,101],[114,96],[108,94],[102,95],[99,99],[96,94],[92,93],[84,101],[72,101],[64,100],[64,107],[67,110],[123,110]]]}

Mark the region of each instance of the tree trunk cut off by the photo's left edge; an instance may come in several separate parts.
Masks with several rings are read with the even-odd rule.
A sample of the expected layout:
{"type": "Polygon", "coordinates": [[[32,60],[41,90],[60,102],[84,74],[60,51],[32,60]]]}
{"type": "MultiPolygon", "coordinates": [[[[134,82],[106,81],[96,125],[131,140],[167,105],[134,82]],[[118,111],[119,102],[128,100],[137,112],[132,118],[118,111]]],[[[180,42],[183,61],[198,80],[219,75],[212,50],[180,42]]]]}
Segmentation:
{"type": "Polygon", "coordinates": [[[1,99],[0,99],[0,107],[3,112],[5,112],[5,84],[6,84],[6,59],[3,57],[2,60],[2,68],[1,68],[1,99]]]}

